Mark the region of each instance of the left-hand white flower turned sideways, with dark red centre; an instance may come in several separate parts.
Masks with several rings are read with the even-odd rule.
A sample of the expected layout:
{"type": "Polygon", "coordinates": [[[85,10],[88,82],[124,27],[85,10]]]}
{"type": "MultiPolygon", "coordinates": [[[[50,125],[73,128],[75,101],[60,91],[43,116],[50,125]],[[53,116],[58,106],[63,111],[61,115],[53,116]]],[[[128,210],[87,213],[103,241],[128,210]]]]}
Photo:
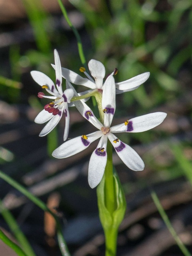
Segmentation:
{"type": "Polygon", "coordinates": [[[69,111],[68,103],[74,96],[73,89],[66,89],[62,91],[62,73],[61,63],[57,50],[54,50],[55,60],[55,74],[56,74],[56,86],[54,82],[46,76],[44,73],[39,71],[32,71],[32,78],[37,82],[43,89],[45,89],[51,96],[46,96],[43,92],[38,93],[39,98],[49,98],[52,100],[50,104],[44,106],[42,110],[35,118],[35,122],[38,124],[44,124],[49,121],[46,126],[42,129],[39,136],[45,136],[51,132],[60,121],[62,114],[65,114],[65,130],[63,139],[66,140],[69,132],[69,111]]]}

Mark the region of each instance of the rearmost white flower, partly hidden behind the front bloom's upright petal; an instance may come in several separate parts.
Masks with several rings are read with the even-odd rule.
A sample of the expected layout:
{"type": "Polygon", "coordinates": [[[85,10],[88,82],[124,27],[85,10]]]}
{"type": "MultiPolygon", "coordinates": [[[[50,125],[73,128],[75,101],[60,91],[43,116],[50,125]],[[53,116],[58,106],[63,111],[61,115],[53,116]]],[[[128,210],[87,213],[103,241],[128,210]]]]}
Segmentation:
{"type": "MultiPolygon", "coordinates": [[[[54,67],[54,65],[52,65],[54,67]]],[[[84,68],[80,68],[81,72],[88,78],[83,78],[82,76],[76,74],[75,72],[62,68],[62,77],[67,81],[72,82],[73,84],[83,85],[92,90],[103,90],[104,84],[103,79],[105,76],[105,68],[104,65],[98,60],[90,60],[88,63],[89,71],[92,75],[92,78],[84,68]]],[[[114,70],[113,74],[117,72],[117,69],[114,70]]],[[[141,84],[143,84],[149,78],[150,72],[145,72],[138,76],[134,76],[126,81],[115,83],[116,86],[116,94],[120,94],[123,92],[129,92],[137,89],[141,84]]]]}

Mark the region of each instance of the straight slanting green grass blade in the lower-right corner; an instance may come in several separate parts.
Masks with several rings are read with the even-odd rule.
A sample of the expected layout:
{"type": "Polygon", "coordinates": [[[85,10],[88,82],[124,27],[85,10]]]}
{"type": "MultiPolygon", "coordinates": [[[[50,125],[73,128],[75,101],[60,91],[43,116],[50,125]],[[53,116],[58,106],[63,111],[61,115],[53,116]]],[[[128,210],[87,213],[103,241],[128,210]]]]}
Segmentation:
{"type": "Polygon", "coordinates": [[[169,232],[171,233],[171,235],[173,236],[174,240],[176,241],[178,247],[180,248],[180,250],[182,251],[182,253],[185,255],[185,256],[192,256],[190,254],[190,252],[187,250],[186,246],[183,244],[183,242],[180,240],[180,238],[178,237],[176,231],[174,230],[166,212],[164,211],[159,199],[158,199],[158,196],[157,194],[152,191],[151,192],[151,197],[154,201],[154,204],[156,205],[157,209],[158,209],[158,212],[160,213],[162,219],[164,220],[169,232]]]}

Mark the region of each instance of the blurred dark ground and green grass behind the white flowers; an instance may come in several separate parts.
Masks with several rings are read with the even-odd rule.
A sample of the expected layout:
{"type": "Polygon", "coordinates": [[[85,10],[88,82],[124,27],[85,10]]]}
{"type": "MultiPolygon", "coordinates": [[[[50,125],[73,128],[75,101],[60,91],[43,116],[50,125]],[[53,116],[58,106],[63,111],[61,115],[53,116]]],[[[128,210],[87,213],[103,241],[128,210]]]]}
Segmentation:
{"type": "MultiPolygon", "coordinates": [[[[137,90],[117,95],[113,124],[163,111],[153,130],[122,134],[145,162],[129,170],[114,154],[127,211],[118,236],[118,256],[182,256],[150,196],[154,189],[180,238],[192,251],[192,2],[191,0],[63,1],[80,33],[87,62],[94,58],[116,82],[150,72],[137,90]]],[[[55,81],[54,49],[62,67],[80,74],[76,38],[56,0],[0,0],[0,165],[60,216],[73,256],[104,256],[96,189],[88,186],[89,148],[67,159],[51,152],[62,144],[65,120],[48,136],[34,118],[48,103],[30,76],[38,70],[55,81]]],[[[82,75],[82,74],[80,74],[82,75]]],[[[63,86],[65,82],[63,81],[63,86]]],[[[76,86],[78,92],[85,88],[76,86]]],[[[91,100],[88,101],[90,106],[91,100]]],[[[94,131],[70,108],[69,138],[94,131]]],[[[37,256],[60,256],[52,218],[0,179],[0,199],[37,256]]],[[[12,236],[5,217],[0,228],[12,236]]],[[[13,238],[14,239],[14,238],[13,238]]],[[[1,256],[16,255],[2,242],[1,256]]]]}

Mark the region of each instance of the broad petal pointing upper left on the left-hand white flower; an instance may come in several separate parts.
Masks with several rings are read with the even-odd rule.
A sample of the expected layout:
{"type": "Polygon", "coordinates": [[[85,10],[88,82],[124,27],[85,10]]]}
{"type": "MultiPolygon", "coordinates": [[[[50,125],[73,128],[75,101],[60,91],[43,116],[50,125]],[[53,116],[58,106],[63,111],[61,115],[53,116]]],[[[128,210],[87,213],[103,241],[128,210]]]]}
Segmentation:
{"type": "Polygon", "coordinates": [[[53,92],[55,88],[54,82],[46,74],[40,71],[31,71],[31,76],[40,86],[47,85],[49,90],[53,92]]]}

